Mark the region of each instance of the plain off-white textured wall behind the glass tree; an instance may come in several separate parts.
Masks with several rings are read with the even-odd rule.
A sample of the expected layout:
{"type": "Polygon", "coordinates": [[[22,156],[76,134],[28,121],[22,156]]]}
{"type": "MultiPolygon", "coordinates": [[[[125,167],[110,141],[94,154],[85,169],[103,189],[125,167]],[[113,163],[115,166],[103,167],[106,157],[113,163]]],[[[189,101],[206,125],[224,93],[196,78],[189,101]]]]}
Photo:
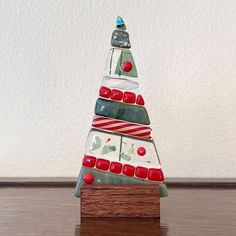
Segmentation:
{"type": "Polygon", "coordinates": [[[166,177],[236,177],[236,1],[0,2],[0,176],[77,176],[117,15],[166,177]]]}

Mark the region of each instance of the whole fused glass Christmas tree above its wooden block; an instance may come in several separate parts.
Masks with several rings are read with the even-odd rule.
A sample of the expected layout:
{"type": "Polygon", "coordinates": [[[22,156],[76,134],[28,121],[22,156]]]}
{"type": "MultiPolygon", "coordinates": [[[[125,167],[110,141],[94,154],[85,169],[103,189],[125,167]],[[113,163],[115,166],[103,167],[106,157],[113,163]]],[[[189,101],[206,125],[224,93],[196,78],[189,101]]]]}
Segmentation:
{"type": "Polygon", "coordinates": [[[168,195],[121,17],[111,38],[75,195],[84,184],[158,184],[168,195]]]}

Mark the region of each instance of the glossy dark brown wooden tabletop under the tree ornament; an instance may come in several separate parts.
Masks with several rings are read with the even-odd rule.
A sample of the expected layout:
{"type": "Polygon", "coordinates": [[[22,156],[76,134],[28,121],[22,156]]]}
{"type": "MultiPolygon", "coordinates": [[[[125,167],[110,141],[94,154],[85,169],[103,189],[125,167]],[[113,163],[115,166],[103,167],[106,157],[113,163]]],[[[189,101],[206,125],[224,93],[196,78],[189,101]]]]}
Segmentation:
{"type": "MultiPolygon", "coordinates": [[[[1,187],[0,235],[236,235],[235,188],[175,188],[161,219],[90,219],[80,225],[72,186],[1,187]]],[[[91,196],[92,197],[92,196],[91,196]]]]}

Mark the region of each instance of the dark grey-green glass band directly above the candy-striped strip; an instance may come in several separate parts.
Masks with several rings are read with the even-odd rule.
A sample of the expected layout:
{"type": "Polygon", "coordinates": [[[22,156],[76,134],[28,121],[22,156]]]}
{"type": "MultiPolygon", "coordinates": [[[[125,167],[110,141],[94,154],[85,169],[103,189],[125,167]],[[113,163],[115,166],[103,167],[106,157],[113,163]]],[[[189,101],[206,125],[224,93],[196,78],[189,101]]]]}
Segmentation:
{"type": "Polygon", "coordinates": [[[129,105],[102,98],[97,99],[95,114],[144,125],[150,124],[145,107],[129,105]]]}

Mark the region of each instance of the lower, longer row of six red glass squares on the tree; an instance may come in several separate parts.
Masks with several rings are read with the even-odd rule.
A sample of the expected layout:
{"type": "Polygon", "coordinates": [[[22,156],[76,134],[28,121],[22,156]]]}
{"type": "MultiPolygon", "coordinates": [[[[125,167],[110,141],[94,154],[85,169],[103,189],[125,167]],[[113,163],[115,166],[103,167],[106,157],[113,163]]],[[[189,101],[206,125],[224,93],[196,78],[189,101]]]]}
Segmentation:
{"type": "Polygon", "coordinates": [[[85,155],[83,158],[83,166],[85,167],[96,167],[99,170],[107,171],[109,170],[114,174],[124,174],[129,177],[133,177],[134,175],[138,178],[146,179],[152,181],[164,181],[164,175],[161,169],[156,168],[146,168],[142,166],[134,167],[132,165],[124,164],[122,165],[120,162],[110,162],[105,159],[97,159],[93,156],[85,155]]]}

